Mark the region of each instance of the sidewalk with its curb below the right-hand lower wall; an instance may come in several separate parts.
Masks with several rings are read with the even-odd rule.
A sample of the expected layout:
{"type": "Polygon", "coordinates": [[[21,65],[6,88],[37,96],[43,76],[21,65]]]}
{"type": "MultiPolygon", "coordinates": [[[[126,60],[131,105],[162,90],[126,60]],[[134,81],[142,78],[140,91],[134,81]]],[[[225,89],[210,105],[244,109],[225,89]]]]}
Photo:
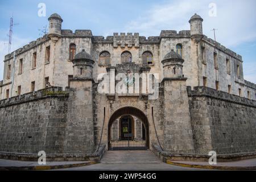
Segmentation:
{"type": "Polygon", "coordinates": [[[217,165],[210,165],[208,162],[167,160],[167,164],[180,166],[180,167],[203,168],[203,169],[256,170],[256,159],[240,160],[236,162],[218,162],[217,160],[217,165]]]}

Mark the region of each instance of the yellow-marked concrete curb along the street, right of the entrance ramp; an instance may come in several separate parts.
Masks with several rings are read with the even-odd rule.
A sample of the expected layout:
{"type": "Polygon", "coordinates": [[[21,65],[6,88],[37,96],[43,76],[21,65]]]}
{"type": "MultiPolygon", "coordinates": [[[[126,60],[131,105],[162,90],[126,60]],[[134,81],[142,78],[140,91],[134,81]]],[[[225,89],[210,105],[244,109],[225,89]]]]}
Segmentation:
{"type": "Polygon", "coordinates": [[[200,164],[186,164],[186,163],[179,163],[174,162],[171,160],[166,161],[167,164],[171,164],[174,166],[180,167],[189,167],[189,168],[200,168],[200,169],[218,169],[218,170],[226,170],[226,171],[241,171],[241,170],[256,170],[256,166],[210,166],[210,165],[200,165],[200,164]]]}

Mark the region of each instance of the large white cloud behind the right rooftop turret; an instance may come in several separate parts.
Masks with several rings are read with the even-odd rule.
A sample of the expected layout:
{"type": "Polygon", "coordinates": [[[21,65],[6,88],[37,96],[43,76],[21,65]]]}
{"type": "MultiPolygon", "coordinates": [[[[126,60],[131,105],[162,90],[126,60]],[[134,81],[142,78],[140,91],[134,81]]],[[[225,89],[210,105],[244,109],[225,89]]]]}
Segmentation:
{"type": "Polygon", "coordinates": [[[160,30],[189,30],[189,18],[197,13],[204,19],[204,34],[213,38],[213,28],[217,28],[217,41],[227,47],[256,39],[256,2],[214,1],[217,16],[209,16],[212,1],[172,1],[154,5],[139,18],[131,20],[125,27],[127,32],[140,32],[144,36],[159,35],[160,30]]]}

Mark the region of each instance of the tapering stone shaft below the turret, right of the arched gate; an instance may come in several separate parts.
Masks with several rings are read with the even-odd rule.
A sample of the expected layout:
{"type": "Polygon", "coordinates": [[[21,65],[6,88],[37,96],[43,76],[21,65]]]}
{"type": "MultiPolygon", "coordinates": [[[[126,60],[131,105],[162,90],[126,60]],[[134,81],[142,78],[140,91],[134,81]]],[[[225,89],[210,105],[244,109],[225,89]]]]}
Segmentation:
{"type": "Polygon", "coordinates": [[[195,152],[186,80],[164,80],[164,150],[172,153],[195,152]]]}

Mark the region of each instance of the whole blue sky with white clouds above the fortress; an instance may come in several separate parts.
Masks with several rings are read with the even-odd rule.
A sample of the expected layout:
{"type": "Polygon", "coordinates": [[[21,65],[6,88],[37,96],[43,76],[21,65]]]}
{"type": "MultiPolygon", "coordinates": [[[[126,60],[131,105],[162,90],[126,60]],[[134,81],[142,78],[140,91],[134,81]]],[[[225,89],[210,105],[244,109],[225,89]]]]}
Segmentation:
{"type": "Polygon", "coordinates": [[[48,16],[59,13],[63,29],[90,29],[93,35],[113,32],[139,32],[141,36],[159,36],[161,30],[189,30],[189,18],[197,13],[204,19],[204,34],[243,57],[245,79],[256,83],[256,1],[255,0],[1,0],[0,1],[0,80],[3,60],[8,53],[10,17],[14,16],[12,51],[39,38],[48,26],[48,16]],[[46,16],[38,16],[39,3],[46,5],[46,16]],[[210,16],[211,3],[216,16],[210,16]]]}

